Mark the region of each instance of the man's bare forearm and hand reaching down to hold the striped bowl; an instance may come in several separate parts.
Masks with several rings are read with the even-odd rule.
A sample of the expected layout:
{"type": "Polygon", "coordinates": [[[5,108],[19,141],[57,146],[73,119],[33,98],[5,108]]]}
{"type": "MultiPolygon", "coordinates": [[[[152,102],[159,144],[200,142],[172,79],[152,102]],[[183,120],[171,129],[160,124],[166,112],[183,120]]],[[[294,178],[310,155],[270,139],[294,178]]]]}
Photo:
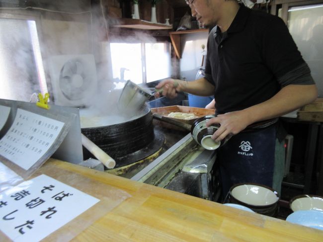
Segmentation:
{"type": "Polygon", "coordinates": [[[221,127],[213,134],[216,141],[223,140],[229,134],[238,134],[248,125],[276,118],[294,111],[318,96],[317,87],[313,85],[290,84],[283,87],[272,98],[243,110],[220,114],[208,121],[207,125],[220,123],[221,127]]]}

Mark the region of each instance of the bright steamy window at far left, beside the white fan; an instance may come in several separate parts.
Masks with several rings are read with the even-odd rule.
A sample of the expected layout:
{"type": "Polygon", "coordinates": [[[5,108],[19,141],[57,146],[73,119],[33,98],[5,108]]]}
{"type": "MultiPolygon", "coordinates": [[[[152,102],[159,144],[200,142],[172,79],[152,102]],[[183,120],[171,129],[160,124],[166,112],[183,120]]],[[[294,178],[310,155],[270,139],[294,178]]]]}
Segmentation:
{"type": "Polygon", "coordinates": [[[29,101],[47,92],[34,20],[0,18],[0,98],[29,101]]]}

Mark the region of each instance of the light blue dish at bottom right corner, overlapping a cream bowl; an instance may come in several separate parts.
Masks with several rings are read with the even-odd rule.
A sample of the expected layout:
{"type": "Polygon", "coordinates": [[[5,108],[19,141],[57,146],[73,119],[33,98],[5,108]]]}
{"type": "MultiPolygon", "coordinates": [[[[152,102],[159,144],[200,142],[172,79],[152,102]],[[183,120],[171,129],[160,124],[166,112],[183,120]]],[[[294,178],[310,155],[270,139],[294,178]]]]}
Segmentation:
{"type": "Polygon", "coordinates": [[[286,221],[294,224],[323,230],[323,212],[318,210],[299,210],[290,214],[286,221]]]}

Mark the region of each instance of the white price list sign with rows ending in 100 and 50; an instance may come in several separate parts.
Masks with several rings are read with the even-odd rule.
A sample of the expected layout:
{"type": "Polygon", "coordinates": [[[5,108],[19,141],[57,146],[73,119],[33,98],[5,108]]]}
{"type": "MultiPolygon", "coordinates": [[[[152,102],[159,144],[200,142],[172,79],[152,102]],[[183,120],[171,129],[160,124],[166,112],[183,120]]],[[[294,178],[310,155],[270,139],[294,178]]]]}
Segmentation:
{"type": "Polygon", "coordinates": [[[63,122],[18,108],[0,140],[0,155],[28,170],[53,145],[63,126],[63,122]]]}

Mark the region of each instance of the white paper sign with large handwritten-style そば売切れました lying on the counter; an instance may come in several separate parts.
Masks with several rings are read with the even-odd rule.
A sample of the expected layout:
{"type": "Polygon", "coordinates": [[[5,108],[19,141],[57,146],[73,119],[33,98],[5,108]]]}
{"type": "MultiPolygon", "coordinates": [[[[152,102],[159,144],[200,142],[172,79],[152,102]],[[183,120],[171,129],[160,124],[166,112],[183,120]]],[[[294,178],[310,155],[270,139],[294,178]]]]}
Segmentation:
{"type": "Polygon", "coordinates": [[[14,242],[40,241],[99,201],[40,175],[0,193],[0,229],[14,242]]]}

